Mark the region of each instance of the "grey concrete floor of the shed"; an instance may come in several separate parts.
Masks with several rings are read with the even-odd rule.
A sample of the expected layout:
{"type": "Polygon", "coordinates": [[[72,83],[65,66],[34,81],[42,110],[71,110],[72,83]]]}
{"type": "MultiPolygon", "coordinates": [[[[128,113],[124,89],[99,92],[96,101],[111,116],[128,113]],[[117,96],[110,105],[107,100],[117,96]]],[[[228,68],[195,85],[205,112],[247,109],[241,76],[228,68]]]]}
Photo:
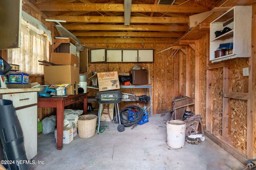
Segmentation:
{"type": "Polygon", "coordinates": [[[56,150],[54,133],[38,135],[34,170],[242,170],[245,165],[209,138],[198,145],[185,142],[180,149],[167,146],[164,120],[168,115],[149,116],[149,122],[125,127],[103,122],[107,129],[90,138],[78,135],[56,150]]]}

